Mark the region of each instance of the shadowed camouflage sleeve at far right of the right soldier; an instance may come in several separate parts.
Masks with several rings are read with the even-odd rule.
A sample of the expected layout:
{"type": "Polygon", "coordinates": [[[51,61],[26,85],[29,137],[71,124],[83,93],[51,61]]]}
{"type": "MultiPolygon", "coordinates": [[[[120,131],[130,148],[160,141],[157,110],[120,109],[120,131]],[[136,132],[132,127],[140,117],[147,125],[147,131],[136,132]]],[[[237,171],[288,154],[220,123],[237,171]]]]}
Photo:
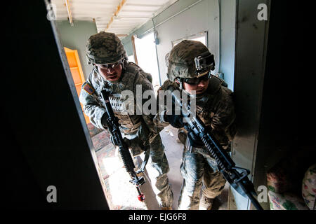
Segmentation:
{"type": "Polygon", "coordinates": [[[226,87],[221,87],[219,91],[214,99],[218,103],[211,112],[211,127],[219,143],[223,148],[227,148],[236,134],[235,107],[231,97],[232,92],[226,87]]]}

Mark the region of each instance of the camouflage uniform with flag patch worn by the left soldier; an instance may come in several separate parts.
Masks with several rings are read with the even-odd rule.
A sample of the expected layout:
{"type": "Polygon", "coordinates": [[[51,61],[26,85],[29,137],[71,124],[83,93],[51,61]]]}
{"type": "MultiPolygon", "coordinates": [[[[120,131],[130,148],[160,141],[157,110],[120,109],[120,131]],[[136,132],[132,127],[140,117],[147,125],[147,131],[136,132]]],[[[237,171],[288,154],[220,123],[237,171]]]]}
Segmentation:
{"type": "MultiPolygon", "coordinates": [[[[107,46],[107,48],[111,47],[107,46]]],[[[144,145],[145,141],[149,142],[150,160],[146,169],[152,182],[152,188],[157,195],[159,205],[161,207],[171,207],[173,193],[166,175],[169,172],[169,164],[164,154],[164,146],[159,130],[153,123],[154,116],[136,115],[136,106],[138,106],[136,97],[132,101],[135,111],[131,113],[131,111],[128,111],[126,99],[123,99],[121,95],[124,90],[130,90],[136,96],[136,85],[141,85],[142,92],[145,90],[153,91],[150,74],[145,73],[132,62],[124,62],[121,77],[114,82],[105,80],[105,78],[100,76],[95,66],[86,82],[82,85],[79,99],[84,105],[84,113],[90,118],[91,123],[98,128],[105,129],[101,123],[101,118],[105,114],[105,105],[100,92],[101,90],[112,92],[109,99],[114,114],[119,119],[122,137],[124,140],[129,139],[128,145],[133,156],[142,153],[140,147],[144,145]]]]}

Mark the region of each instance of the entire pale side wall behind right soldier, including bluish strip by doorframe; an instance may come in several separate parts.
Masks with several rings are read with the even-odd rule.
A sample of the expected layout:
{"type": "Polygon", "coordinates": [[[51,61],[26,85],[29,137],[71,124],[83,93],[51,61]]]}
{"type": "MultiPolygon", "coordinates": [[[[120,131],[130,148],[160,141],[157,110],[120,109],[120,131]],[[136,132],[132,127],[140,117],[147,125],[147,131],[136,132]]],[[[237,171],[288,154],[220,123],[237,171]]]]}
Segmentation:
{"type": "MultiPolygon", "coordinates": [[[[215,55],[216,70],[224,73],[225,82],[233,90],[235,67],[235,0],[179,0],[166,8],[153,20],[158,32],[159,73],[162,83],[166,80],[164,56],[172,48],[171,41],[191,36],[201,31],[208,31],[209,50],[215,55]],[[219,13],[218,3],[221,10],[219,13]],[[219,21],[221,14],[221,25],[219,21]],[[219,27],[221,26],[221,33],[219,27]],[[219,41],[221,49],[219,50],[219,41]],[[220,54],[220,55],[219,55],[220,54]],[[221,60],[220,65],[218,64],[221,60]]],[[[133,54],[131,36],[141,38],[147,31],[152,31],[152,20],[122,39],[128,55],[133,54]]]]}

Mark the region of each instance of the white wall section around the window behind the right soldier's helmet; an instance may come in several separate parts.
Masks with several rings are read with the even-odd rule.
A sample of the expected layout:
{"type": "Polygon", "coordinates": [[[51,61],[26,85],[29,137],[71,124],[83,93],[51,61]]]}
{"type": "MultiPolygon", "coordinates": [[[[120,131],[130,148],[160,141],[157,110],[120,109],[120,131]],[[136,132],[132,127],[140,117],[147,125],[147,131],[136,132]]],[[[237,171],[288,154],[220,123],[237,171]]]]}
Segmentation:
{"type": "MultiPolygon", "coordinates": [[[[164,56],[172,48],[171,41],[191,36],[202,31],[209,32],[209,50],[215,55],[216,65],[218,64],[219,51],[219,22],[218,22],[218,1],[204,0],[197,3],[183,13],[176,15],[159,27],[159,44],[157,45],[157,54],[159,58],[159,69],[162,83],[166,80],[166,64],[164,56]]],[[[216,66],[216,70],[218,66],[216,66]]]]}

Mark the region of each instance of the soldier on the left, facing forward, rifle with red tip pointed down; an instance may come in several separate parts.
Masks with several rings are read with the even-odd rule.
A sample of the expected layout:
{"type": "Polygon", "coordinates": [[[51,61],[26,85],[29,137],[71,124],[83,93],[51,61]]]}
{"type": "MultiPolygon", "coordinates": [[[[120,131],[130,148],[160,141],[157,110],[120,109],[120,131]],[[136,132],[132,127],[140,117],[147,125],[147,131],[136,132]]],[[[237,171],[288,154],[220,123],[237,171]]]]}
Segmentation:
{"type": "MultiPolygon", "coordinates": [[[[79,99],[84,106],[84,113],[94,126],[107,129],[105,105],[100,92],[101,90],[112,92],[109,99],[114,114],[119,119],[124,141],[133,156],[139,155],[143,147],[149,144],[150,159],[147,172],[152,188],[160,207],[171,209],[173,193],[166,175],[169,172],[169,164],[164,154],[159,130],[153,123],[154,115],[137,115],[136,107],[142,105],[136,104],[136,100],[132,99],[134,111],[130,111],[129,105],[126,105],[126,100],[123,99],[124,90],[131,90],[136,96],[136,85],[141,86],[142,92],[153,91],[152,76],[136,64],[127,61],[124,47],[115,34],[100,32],[92,35],[88,39],[86,50],[88,62],[94,67],[81,87],[79,99]]],[[[113,144],[115,145],[115,142],[113,144]]]]}

